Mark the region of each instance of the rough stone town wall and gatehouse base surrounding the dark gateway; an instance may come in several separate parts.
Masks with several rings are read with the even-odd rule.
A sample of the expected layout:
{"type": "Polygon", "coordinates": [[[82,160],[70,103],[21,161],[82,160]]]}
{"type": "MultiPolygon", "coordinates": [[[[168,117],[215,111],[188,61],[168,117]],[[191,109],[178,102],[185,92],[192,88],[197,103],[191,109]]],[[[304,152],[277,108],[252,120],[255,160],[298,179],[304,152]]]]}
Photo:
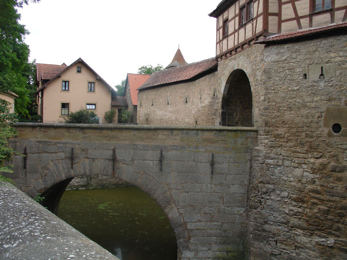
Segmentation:
{"type": "Polygon", "coordinates": [[[255,44],[196,81],[139,92],[143,124],[140,118],[216,126],[226,88],[238,84],[232,73],[247,75],[258,129],[248,190],[251,260],[347,258],[346,57],[340,34],[255,44]]]}

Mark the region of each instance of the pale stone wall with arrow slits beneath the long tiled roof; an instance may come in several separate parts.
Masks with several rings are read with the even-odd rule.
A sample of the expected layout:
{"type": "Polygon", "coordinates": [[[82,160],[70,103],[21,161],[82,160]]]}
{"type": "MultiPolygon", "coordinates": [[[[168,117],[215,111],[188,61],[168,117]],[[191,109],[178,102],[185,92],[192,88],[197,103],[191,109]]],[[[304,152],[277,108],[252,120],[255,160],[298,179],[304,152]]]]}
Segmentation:
{"type": "Polygon", "coordinates": [[[196,81],[139,91],[138,123],[219,126],[222,94],[216,85],[214,72],[196,81]]]}

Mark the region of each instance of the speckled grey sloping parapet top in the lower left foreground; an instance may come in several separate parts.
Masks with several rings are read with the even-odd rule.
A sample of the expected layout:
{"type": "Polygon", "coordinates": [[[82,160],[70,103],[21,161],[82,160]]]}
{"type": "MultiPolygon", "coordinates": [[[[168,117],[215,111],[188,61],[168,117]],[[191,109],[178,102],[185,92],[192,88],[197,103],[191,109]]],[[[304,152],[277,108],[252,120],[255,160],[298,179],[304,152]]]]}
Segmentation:
{"type": "Polygon", "coordinates": [[[0,209],[0,259],[119,260],[9,183],[0,209]]]}

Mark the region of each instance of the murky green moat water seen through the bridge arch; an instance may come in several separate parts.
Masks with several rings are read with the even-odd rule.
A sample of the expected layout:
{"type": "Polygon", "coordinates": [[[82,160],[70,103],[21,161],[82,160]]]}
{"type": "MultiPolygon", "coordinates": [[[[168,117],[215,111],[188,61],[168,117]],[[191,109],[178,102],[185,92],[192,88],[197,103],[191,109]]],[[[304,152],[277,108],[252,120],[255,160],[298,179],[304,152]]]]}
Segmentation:
{"type": "Polygon", "coordinates": [[[177,260],[168,218],[136,187],[66,191],[58,216],[120,260],[177,260]]]}

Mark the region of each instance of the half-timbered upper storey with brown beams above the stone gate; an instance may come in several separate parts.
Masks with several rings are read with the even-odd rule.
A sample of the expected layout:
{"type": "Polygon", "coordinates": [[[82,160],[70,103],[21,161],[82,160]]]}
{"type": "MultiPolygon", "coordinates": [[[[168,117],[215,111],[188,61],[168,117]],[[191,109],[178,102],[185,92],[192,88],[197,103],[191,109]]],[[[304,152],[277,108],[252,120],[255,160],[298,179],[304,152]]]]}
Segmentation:
{"type": "Polygon", "coordinates": [[[331,8],[315,11],[315,0],[223,0],[209,16],[217,18],[216,59],[223,60],[271,35],[346,22],[347,2],[331,0],[331,8]],[[245,6],[251,17],[241,22],[245,6]]]}

